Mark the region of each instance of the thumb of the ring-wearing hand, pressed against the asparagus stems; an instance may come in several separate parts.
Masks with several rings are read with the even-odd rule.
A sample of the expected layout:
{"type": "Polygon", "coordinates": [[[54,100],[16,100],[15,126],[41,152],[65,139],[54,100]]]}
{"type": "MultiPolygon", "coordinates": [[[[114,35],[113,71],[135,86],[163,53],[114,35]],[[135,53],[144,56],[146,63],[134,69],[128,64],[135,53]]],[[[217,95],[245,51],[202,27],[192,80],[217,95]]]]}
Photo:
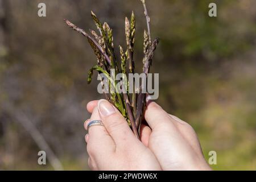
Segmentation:
{"type": "Polygon", "coordinates": [[[115,144],[127,144],[137,139],[122,114],[106,100],[98,102],[100,118],[115,144]]]}

